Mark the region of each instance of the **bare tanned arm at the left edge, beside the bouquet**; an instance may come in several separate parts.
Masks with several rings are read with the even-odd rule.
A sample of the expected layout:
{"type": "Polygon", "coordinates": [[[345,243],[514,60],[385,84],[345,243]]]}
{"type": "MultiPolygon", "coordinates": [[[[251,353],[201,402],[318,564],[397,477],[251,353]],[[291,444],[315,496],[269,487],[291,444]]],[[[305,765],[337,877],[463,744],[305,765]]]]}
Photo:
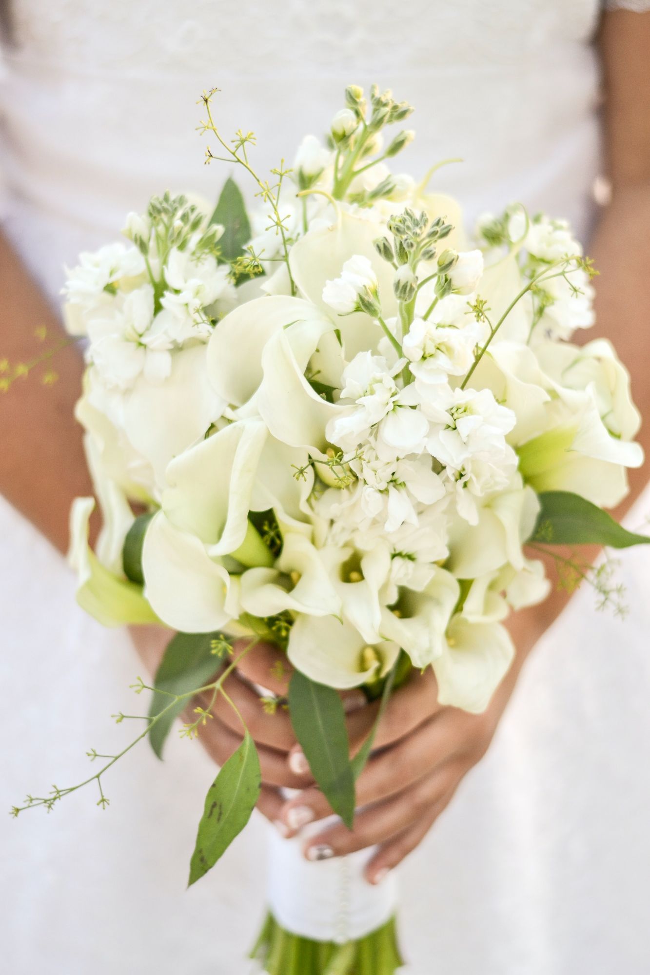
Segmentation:
{"type": "MultiPolygon", "coordinates": [[[[1,234],[0,294],[0,360],[9,360],[10,368],[42,351],[37,329],[47,329],[48,344],[63,337],[56,315],[1,234]]],[[[34,370],[0,395],[0,492],[63,552],[70,502],[92,493],[92,487],[81,427],[73,416],[82,356],[72,345],[51,365],[58,375],[53,385],[45,386],[42,370],[34,370]]]]}

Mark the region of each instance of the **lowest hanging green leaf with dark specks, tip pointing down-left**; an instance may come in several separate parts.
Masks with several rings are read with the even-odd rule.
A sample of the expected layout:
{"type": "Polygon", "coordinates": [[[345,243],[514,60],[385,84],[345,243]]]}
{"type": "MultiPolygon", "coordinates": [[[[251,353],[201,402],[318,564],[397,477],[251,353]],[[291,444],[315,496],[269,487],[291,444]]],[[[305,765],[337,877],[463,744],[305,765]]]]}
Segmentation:
{"type": "Polygon", "coordinates": [[[188,886],[211,870],[244,829],[260,797],[262,773],[255,742],[248,731],[208,789],[189,864],[188,886]]]}

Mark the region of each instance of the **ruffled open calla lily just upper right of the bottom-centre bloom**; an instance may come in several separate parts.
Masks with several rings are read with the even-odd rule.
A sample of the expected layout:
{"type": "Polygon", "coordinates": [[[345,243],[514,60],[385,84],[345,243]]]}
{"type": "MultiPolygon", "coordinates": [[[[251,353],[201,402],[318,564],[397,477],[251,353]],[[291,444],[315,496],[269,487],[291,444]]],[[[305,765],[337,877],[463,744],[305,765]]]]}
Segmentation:
{"type": "Polygon", "coordinates": [[[435,568],[422,592],[402,588],[396,609],[385,608],[382,613],[382,636],[398,643],[419,668],[442,653],[445,630],[461,591],[451,572],[435,568]]]}

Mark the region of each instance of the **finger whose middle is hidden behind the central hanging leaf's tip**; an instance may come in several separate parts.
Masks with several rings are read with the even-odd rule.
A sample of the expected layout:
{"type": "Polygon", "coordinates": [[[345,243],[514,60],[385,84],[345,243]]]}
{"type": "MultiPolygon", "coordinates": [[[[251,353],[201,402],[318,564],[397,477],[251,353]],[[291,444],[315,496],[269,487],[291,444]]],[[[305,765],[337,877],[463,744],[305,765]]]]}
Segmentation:
{"type": "MultiPolygon", "coordinates": [[[[422,725],[407,738],[372,757],[357,782],[358,806],[385,800],[418,781],[444,761],[458,754],[462,741],[463,725],[455,720],[455,712],[449,709],[432,721],[422,725]]],[[[295,828],[311,820],[332,815],[332,808],[323,794],[309,787],[285,803],[282,820],[295,828]],[[298,808],[299,812],[292,810],[298,808]]]]}

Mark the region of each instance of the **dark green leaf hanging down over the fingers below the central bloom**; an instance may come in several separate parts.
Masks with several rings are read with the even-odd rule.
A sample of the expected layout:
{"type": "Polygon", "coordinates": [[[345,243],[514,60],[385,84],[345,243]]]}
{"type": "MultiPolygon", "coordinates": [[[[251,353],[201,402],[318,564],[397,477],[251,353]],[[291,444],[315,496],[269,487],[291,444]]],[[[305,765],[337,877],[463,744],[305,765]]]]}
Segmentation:
{"type": "Polygon", "coordinates": [[[289,714],[311,774],[345,826],[354,819],[354,775],[349,761],[345,711],[333,687],[295,671],[289,684],[289,714]]]}

